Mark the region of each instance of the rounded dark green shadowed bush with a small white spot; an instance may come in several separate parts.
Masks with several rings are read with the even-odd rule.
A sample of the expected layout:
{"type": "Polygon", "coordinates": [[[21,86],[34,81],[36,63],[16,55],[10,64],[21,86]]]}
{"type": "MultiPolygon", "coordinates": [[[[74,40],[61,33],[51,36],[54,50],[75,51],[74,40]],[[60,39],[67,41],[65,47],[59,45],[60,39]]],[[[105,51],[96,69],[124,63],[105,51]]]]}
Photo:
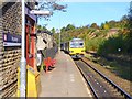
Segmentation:
{"type": "Polygon", "coordinates": [[[122,35],[116,35],[109,37],[108,40],[103,41],[99,48],[98,54],[107,55],[107,54],[120,54],[127,53],[127,45],[125,45],[124,37],[122,35]]]}

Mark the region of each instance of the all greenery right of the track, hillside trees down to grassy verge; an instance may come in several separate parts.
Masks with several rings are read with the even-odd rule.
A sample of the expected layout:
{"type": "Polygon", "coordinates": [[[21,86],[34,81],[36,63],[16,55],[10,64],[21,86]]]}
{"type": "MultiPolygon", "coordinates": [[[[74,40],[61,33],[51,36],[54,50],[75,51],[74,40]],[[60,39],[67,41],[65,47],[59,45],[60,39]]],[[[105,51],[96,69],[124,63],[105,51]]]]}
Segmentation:
{"type": "MultiPolygon", "coordinates": [[[[88,56],[90,61],[106,66],[124,79],[132,80],[130,69],[132,63],[132,2],[128,14],[123,15],[120,21],[111,20],[100,26],[97,23],[81,28],[68,24],[61,30],[61,34],[62,42],[68,42],[73,37],[82,38],[86,43],[86,51],[94,51],[100,56],[88,56]]],[[[59,40],[58,34],[54,33],[54,36],[56,41],[59,40]]]]}

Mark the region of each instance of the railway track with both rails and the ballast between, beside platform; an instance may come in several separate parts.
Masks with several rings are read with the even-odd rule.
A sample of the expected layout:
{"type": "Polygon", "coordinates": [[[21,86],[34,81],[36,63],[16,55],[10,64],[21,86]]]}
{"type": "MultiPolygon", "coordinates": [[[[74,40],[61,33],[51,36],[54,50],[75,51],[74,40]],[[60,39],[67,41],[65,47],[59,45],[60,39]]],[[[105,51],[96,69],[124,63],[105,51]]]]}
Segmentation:
{"type": "Polygon", "coordinates": [[[75,61],[75,64],[90,86],[95,98],[132,99],[129,94],[84,59],[75,61]]]}

